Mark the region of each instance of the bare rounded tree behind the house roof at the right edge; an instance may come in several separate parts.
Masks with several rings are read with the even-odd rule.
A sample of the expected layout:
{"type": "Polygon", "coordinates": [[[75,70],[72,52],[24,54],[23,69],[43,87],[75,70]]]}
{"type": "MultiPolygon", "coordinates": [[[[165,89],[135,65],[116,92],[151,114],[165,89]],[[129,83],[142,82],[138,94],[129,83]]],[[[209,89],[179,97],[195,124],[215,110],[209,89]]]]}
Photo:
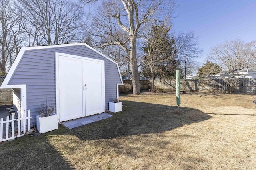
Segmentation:
{"type": "Polygon", "coordinates": [[[255,42],[244,43],[241,39],[225,41],[210,49],[208,59],[220,64],[226,72],[255,66],[255,42]]]}

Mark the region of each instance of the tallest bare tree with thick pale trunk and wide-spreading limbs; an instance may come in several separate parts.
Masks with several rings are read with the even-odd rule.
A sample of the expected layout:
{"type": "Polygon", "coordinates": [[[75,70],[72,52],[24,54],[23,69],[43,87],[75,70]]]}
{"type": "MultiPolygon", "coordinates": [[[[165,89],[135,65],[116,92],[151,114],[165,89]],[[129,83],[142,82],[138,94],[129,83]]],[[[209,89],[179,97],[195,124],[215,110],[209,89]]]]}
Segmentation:
{"type": "Polygon", "coordinates": [[[173,5],[170,0],[104,0],[91,15],[90,33],[98,40],[97,46],[120,45],[129,56],[133,94],[140,94],[136,51],[140,28],[150,20],[165,19],[173,5]]]}

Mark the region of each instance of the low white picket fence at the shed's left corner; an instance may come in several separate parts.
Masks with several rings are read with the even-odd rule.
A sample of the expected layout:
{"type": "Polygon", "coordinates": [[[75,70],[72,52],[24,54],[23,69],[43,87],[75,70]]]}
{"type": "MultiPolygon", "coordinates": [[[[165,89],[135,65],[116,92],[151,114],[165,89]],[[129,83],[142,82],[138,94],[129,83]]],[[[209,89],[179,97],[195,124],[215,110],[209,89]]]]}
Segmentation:
{"type": "Polygon", "coordinates": [[[14,119],[15,113],[12,113],[12,119],[9,119],[9,116],[6,117],[6,121],[4,121],[3,118],[0,120],[0,142],[2,141],[8,141],[10,139],[14,139],[16,137],[21,137],[25,135],[26,130],[30,130],[30,110],[28,110],[28,117],[26,117],[26,113],[23,115],[20,114],[20,111],[18,112],[18,119],[14,119]],[[18,121],[18,132],[15,133],[15,121],[18,121]],[[4,123],[6,123],[6,135],[4,137],[4,123]],[[9,123],[11,123],[11,128],[9,128],[9,123]],[[26,129],[26,125],[28,125],[28,128],[26,129]],[[10,135],[11,134],[11,135],[10,135]],[[9,137],[10,135],[10,137],[9,137]]]}

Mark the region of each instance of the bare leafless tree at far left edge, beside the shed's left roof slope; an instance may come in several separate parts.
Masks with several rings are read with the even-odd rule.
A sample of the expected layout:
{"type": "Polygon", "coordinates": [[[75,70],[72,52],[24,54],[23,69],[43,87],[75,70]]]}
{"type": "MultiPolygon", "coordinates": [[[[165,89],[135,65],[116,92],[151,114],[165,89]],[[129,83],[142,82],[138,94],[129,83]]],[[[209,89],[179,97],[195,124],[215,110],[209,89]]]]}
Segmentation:
{"type": "Polygon", "coordinates": [[[0,1],[0,71],[6,74],[12,65],[22,43],[21,17],[15,14],[11,0],[0,1]]]}

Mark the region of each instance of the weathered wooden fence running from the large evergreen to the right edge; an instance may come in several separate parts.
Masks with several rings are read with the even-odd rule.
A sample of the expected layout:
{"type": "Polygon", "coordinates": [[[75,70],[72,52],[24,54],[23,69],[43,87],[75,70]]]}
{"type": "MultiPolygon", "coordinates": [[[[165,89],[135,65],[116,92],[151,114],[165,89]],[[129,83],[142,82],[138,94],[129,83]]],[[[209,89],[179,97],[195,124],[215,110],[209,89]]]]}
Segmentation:
{"type": "MultiPolygon", "coordinates": [[[[180,84],[181,90],[256,94],[256,79],[254,78],[181,80],[180,84]]],[[[165,90],[176,90],[176,80],[155,80],[154,86],[165,90]]]]}

